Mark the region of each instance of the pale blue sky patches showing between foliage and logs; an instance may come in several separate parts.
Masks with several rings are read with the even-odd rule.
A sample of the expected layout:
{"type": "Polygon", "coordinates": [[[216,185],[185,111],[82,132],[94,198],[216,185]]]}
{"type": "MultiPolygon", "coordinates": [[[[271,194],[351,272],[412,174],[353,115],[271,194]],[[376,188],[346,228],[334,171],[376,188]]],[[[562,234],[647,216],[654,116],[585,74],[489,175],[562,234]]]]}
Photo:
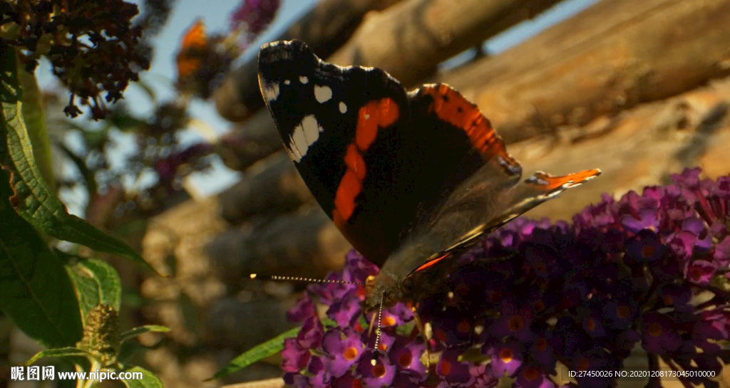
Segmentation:
{"type": "MultiPolygon", "coordinates": [[[[155,57],[150,71],[142,75],[142,79],[153,87],[155,94],[159,101],[172,98],[174,96],[174,89],[172,88],[172,80],[174,79],[174,54],[177,51],[178,42],[180,37],[185,33],[185,30],[191,26],[196,18],[202,18],[207,28],[207,32],[215,31],[227,31],[228,30],[228,15],[230,12],[237,8],[242,0],[178,0],[172,15],[169,18],[168,23],[161,31],[161,33],[155,38],[155,57]]],[[[412,0],[411,0],[412,1],[412,0]]],[[[487,1],[487,0],[485,0],[487,1]]],[[[526,20],[520,23],[518,26],[511,28],[509,31],[505,31],[499,36],[495,36],[493,39],[485,42],[485,46],[489,53],[496,54],[500,53],[508,48],[522,42],[524,39],[539,33],[539,31],[558,23],[565,18],[569,18],[571,15],[575,15],[577,12],[589,7],[591,4],[596,3],[598,0],[566,0],[556,5],[550,11],[544,12],[533,20],[526,20]]],[[[133,0],[133,2],[140,4],[141,1],[133,0]]],[[[275,36],[280,34],[287,28],[294,20],[297,20],[300,15],[307,12],[308,9],[313,7],[316,0],[282,0],[282,7],[280,8],[277,18],[269,26],[269,29],[260,36],[252,47],[258,47],[261,43],[268,40],[274,39],[275,36]]],[[[242,55],[239,60],[250,58],[255,55],[255,52],[249,52],[242,55]]],[[[54,85],[53,76],[50,75],[50,71],[47,65],[39,66],[37,71],[39,83],[42,87],[54,85]]],[[[125,93],[126,102],[128,106],[139,114],[150,112],[151,104],[149,98],[139,89],[139,87],[130,86],[125,93]]],[[[193,101],[191,104],[191,115],[201,120],[210,126],[213,132],[218,135],[226,133],[231,124],[223,120],[215,112],[215,106],[209,101],[193,101]]],[[[201,135],[194,130],[186,131],[180,137],[183,143],[193,143],[201,141],[201,135]]],[[[125,152],[133,152],[134,140],[131,136],[118,136],[118,161],[114,163],[121,163],[125,152]]],[[[192,177],[196,187],[200,187],[201,193],[204,195],[210,195],[223,190],[225,187],[233,184],[239,179],[239,174],[234,171],[229,171],[225,168],[222,163],[215,163],[213,171],[208,171],[204,174],[194,174],[192,177]]],[[[73,195],[74,197],[76,195],[73,195]]],[[[72,201],[77,202],[77,201],[72,201]]],[[[73,203],[69,203],[70,207],[74,207],[73,203]]]]}

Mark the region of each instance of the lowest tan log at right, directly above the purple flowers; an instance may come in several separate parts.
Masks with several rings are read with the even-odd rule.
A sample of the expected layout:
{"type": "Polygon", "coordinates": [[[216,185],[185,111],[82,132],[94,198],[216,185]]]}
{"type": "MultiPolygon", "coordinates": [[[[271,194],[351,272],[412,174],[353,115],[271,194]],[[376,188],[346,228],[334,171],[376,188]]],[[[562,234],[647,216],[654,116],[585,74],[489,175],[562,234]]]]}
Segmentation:
{"type": "Polygon", "coordinates": [[[567,128],[510,145],[526,173],[565,174],[601,168],[603,174],[568,190],[526,215],[570,220],[601,193],[616,197],[629,190],[669,182],[669,175],[700,166],[715,179],[730,174],[730,77],[679,96],[641,104],[618,117],[603,115],[588,125],[567,128]]]}

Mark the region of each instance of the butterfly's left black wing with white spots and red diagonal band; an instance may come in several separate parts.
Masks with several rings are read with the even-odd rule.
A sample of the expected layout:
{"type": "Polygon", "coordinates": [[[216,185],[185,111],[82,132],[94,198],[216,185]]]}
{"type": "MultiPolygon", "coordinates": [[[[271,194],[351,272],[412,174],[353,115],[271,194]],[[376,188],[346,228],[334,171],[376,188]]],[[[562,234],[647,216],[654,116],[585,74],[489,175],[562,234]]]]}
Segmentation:
{"type": "Polygon", "coordinates": [[[264,44],[261,92],[285,149],[322,209],[361,254],[382,264],[404,224],[410,166],[407,94],[385,71],[320,61],[299,41],[264,44]]]}

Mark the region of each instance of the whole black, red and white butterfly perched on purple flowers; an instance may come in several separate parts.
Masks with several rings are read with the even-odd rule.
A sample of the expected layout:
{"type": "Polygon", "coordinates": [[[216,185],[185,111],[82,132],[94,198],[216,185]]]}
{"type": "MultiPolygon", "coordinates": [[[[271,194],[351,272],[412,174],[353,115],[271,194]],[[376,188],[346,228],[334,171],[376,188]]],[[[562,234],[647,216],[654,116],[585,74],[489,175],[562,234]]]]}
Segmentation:
{"type": "Polygon", "coordinates": [[[445,84],[407,92],[298,41],[264,44],[258,82],[286,150],[339,230],[381,267],[364,309],[411,300],[412,276],[598,176],[522,168],[475,104],[445,84]]]}

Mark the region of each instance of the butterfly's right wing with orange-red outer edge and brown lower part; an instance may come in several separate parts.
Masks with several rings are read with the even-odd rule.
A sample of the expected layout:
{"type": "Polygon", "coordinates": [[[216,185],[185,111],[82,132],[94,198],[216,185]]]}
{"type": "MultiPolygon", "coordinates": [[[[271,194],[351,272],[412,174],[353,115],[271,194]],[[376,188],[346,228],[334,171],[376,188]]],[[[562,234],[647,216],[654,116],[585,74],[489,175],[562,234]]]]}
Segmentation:
{"type": "MultiPolygon", "coordinates": [[[[446,155],[447,167],[441,173],[450,176],[446,181],[450,190],[441,189],[447,198],[428,207],[423,227],[414,230],[394,260],[385,264],[383,271],[396,279],[454,257],[486,233],[600,174],[597,169],[566,176],[537,172],[520,181],[520,163],[507,153],[480,109],[461,93],[444,84],[424,85],[409,93],[409,105],[412,125],[431,138],[421,147],[430,145],[427,152],[439,161],[446,155]],[[462,140],[457,147],[446,139],[433,140],[442,133],[449,133],[446,139],[451,141],[462,133],[468,142],[462,140]]],[[[423,198],[436,195],[421,193],[423,198]]]]}

